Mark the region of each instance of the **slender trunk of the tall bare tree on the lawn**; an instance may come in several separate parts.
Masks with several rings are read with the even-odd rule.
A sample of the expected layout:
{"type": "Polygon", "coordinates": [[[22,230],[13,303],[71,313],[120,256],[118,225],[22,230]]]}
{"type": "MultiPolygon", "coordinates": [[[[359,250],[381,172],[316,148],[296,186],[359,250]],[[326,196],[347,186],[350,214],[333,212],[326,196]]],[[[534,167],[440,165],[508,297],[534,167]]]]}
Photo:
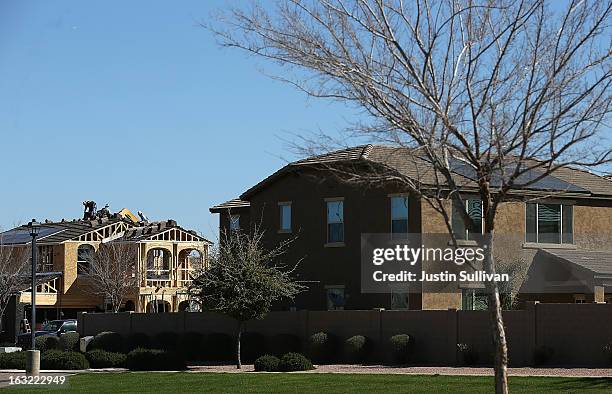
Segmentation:
{"type": "MultiPolygon", "coordinates": [[[[485,223],[485,266],[489,274],[495,273],[495,261],[493,255],[493,224],[485,223]]],[[[489,220],[486,220],[489,222],[489,220]]],[[[495,346],[495,392],[497,394],[508,393],[508,345],[506,342],[506,329],[502,316],[502,307],[499,298],[499,287],[495,281],[485,282],[489,296],[489,314],[491,321],[493,344],[495,346]]]]}

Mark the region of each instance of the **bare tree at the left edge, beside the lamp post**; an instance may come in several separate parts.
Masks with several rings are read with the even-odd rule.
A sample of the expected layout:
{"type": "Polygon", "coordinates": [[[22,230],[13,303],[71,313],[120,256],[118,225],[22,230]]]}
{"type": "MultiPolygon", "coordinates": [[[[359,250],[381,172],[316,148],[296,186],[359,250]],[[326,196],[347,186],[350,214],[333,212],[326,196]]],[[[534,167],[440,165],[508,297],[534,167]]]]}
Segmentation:
{"type": "Polygon", "coordinates": [[[23,246],[3,245],[0,238],[0,324],[11,298],[31,285],[30,250],[23,246]]]}

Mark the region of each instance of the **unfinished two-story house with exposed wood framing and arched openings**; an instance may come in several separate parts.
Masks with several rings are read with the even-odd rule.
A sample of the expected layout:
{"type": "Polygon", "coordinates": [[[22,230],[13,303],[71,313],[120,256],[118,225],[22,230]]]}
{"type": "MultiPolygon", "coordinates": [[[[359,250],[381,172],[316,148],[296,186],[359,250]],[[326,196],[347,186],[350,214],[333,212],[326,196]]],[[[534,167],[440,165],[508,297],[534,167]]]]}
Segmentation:
{"type": "MultiPolygon", "coordinates": [[[[0,234],[4,246],[31,247],[27,226],[0,234]]],[[[128,210],[110,214],[85,212],[83,219],[45,221],[37,237],[37,272],[53,273],[37,287],[37,323],[48,319],[76,318],[77,312],[104,311],[105,300],[92,291],[88,266],[103,243],[137,245],[140,284],[124,301],[126,311],[174,312],[190,307],[186,287],[191,274],[206,261],[209,241],[179,226],[174,220],[149,222],[128,210]]],[[[26,311],[29,290],[17,297],[26,311]]],[[[19,314],[19,313],[18,313],[19,314]]],[[[27,313],[25,314],[28,315],[27,313]]],[[[17,316],[17,321],[23,318],[17,316]]]]}

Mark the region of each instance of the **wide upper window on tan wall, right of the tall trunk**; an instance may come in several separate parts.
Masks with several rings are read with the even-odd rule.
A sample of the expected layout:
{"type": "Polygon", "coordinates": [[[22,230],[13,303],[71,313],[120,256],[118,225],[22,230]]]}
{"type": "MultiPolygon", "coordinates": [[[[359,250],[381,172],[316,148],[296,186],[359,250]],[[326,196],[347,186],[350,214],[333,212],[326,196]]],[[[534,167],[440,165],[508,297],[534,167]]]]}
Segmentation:
{"type": "Polygon", "coordinates": [[[574,207],[564,204],[527,203],[525,239],[527,242],[571,244],[574,242],[574,207]]]}

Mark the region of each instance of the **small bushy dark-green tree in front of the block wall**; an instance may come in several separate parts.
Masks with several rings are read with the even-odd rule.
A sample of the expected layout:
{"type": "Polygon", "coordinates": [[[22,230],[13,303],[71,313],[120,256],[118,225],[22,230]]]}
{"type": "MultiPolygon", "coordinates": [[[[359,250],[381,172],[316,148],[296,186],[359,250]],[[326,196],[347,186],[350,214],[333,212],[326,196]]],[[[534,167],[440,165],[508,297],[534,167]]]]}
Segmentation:
{"type": "Polygon", "coordinates": [[[304,286],[291,277],[280,263],[292,239],[273,249],[263,245],[264,232],[254,226],[249,233],[223,233],[212,250],[206,268],[194,278],[190,293],[200,300],[203,310],[219,312],[238,323],[236,330],[236,367],[241,368],[240,339],[244,323],[263,319],[272,304],[283,298],[293,299],[304,286]]]}

